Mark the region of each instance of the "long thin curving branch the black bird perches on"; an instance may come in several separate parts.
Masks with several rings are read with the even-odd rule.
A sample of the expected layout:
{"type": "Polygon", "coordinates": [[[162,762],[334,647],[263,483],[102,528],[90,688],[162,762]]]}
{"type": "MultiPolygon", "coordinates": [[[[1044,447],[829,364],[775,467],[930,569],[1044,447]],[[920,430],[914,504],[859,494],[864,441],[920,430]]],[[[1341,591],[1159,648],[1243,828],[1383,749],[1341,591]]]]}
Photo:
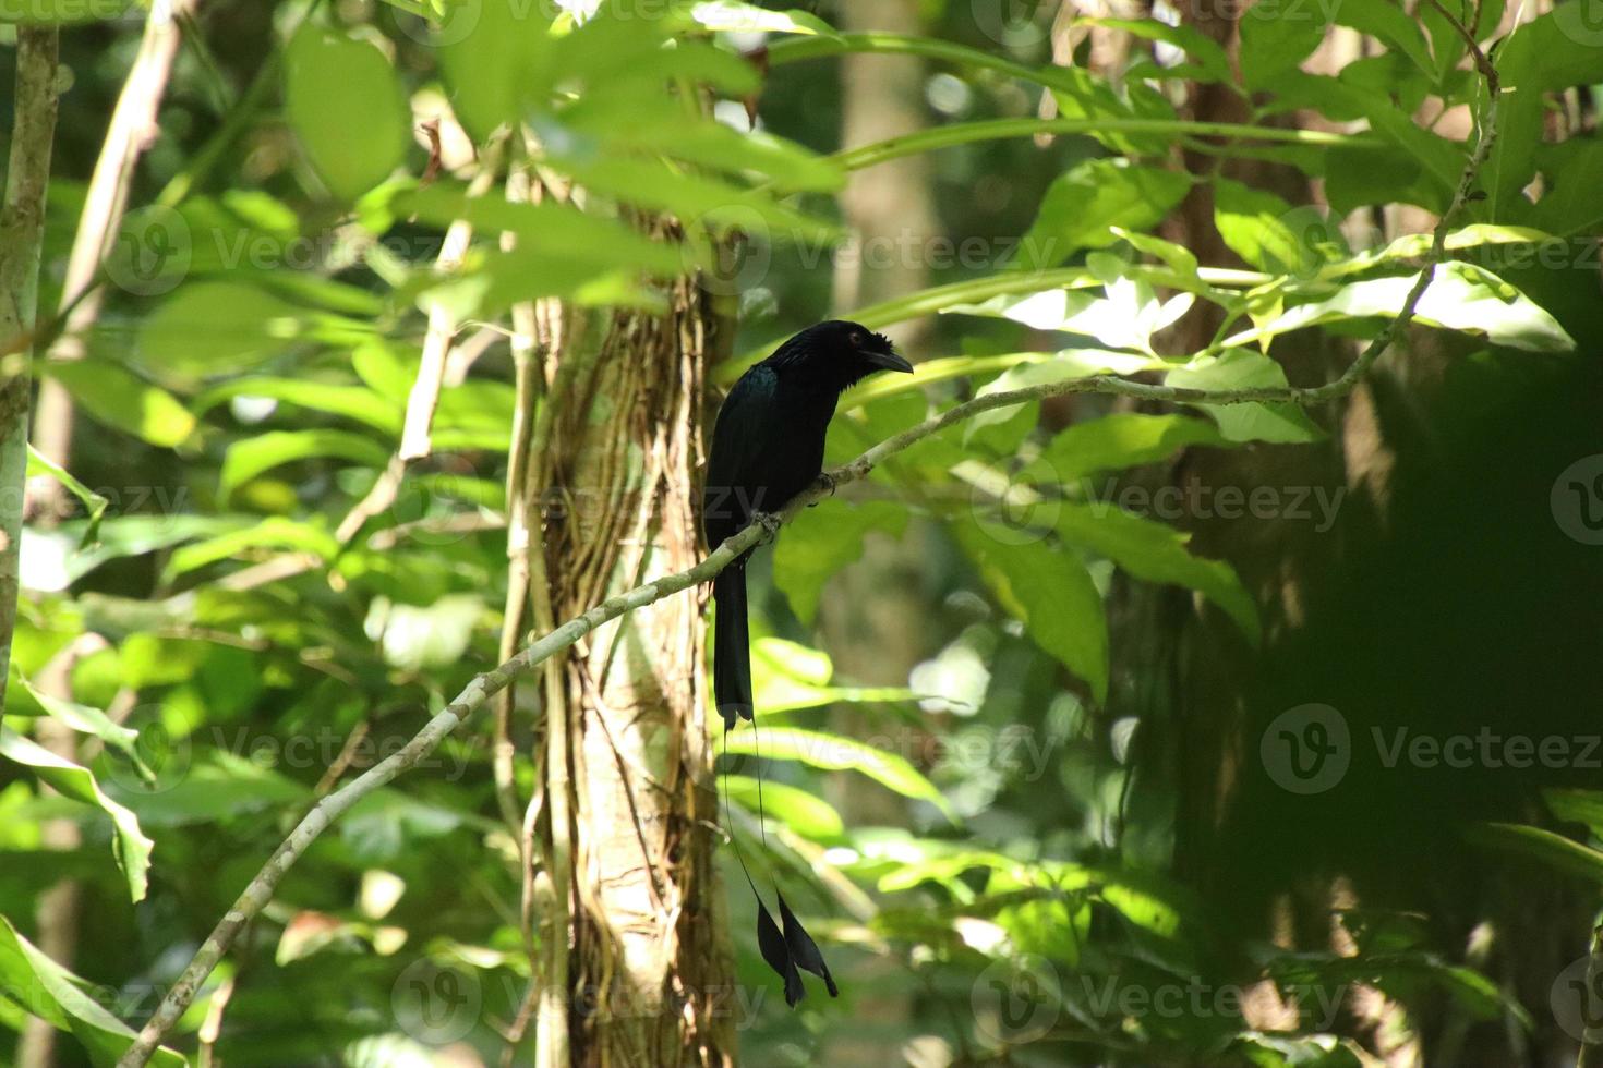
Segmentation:
{"type": "MultiPolygon", "coordinates": [[[[375,764],[345,788],[319,801],[295,826],[295,829],[290,831],[290,836],[273,852],[268,863],[261,868],[256,877],[250,881],[245,890],[234,901],[232,908],[228,909],[221,922],[218,922],[207,940],[200,945],[200,950],[184,969],[183,975],[178,977],[178,982],[173,983],[172,990],[168,990],[162,1004],[139,1031],[133,1046],[130,1046],[117,1062],[117,1068],[139,1068],[149,1060],[151,1054],[155,1050],[157,1044],[160,1044],[167,1031],[172,1030],[172,1026],[194,1001],[202,983],[205,983],[205,978],[212,974],[212,969],[215,969],[218,961],[223,959],[223,954],[228,953],[228,948],[232,945],[240,929],[250,922],[250,919],[273,898],[273,892],[277,889],[279,882],[295,861],[300,860],[301,853],[306,852],[313,841],[316,841],[316,837],[351,805],[380,786],[385,786],[402,772],[415,767],[423,757],[433,753],[441,741],[444,741],[446,735],[455,730],[491,697],[511,685],[511,682],[519,676],[531,673],[611,620],[643,608],[649,604],[656,604],[664,597],[672,597],[673,594],[683,592],[692,586],[712,581],[744,552],[757,548],[760,541],[777,533],[777,530],[800,514],[802,509],[816,504],[824,496],[832,493],[835,487],[866,479],[869,472],[896,453],[911,448],[933,434],[970,420],[981,412],[992,412],[995,408],[1005,408],[1029,400],[1061,397],[1076,392],[1104,392],[1141,397],[1148,400],[1218,405],[1254,402],[1314,405],[1337,400],[1350,394],[1358,386],[1359,379],[1363,379],[1364,373],[1387,351],[1391,339],[1414,319],[1419,301],[1435,277],[1436,266],[1446,255],[1446,234],[1451,219],[1470,197],[1470,189],[1473,187],[1480,168],[1491,152],[1492,139],[1496,138],[1494,122],[1499,94],[1496,74],[1489,78],[1488,90],[1489,99],[1486,117],[1481,122],[1480,139],[1475,151],[1470,154],[1470,159],[1465,162],[1464,176],[1459,181],[1452,202],[1436,224],[1430,253],[1425,256],[1425,266],[1420,269],[1419,280],[1404,299],[1396,319],[1387,323],[1387,327],[1375,336],[1374,341],[1369,343],[1369,346],[1340,378],[1314,387],[1282,386],[1209,391],[1135,383],[1125,378],[1096,375],[1090,378],[1045,383],[1040,386],[1010,389],[1005,392],[989,394],[986,397],[976,397],[975,400],[960,404],[938,416],[925,420],[919,426],[909,428],[901,434],[874,445],[846,466],[827,472],[827,476],[821,477],[811,487],[798,493],[784,506],[781,512],[758,516],[755,522],[725,540],[723,544],[720,544],[696,567],[644,583],[614,597],[608,597],[600,605],[595,605],[585,613],[567,620],[555,629],[550,629],[534,644],[494,671],[486,671],[484,674],[476,676],[471,682],[468,682],[457,700],[439,711],[417,735],[412,737],[406,748],[375,764]]],[[[547,408],[548,407],[542,407],[542,418],[548,418],[547,408]]],[[[563,887],[558,885],[556,890],[563,892],[563,887]]]]}

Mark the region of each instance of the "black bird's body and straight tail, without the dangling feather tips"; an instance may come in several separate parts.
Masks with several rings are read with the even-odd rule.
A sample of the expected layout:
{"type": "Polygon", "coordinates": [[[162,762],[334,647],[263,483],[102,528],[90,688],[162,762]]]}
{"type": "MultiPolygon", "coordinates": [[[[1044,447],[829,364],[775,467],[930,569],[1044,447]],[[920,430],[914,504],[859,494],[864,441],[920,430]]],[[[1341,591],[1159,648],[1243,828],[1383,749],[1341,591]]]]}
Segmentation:
{"type": "MultiPolygon", "coordinates": [[[[707,548],[779,511],[824,471],[824,432],[840,394],[874,371],[912,373],[883,335],[838,319],[808,327],[752,367],[718,410],[702,496],[707,548]]],[[[745,628],[745,560],[712,584],[717,634],[712,689],[725,729],[752,719],[752,660],[745,628]]]]}

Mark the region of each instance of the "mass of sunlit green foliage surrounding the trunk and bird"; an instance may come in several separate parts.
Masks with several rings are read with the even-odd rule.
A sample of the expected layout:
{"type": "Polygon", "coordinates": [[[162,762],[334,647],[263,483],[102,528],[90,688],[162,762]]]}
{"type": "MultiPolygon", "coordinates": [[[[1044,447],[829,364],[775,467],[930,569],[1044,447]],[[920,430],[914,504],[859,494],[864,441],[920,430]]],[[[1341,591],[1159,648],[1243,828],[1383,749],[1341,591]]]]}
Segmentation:
{"type": "MultiPolygon", "coordinates": [[[[1595,139],[1542,139],[1544,91],[1603,83],[1603,51],[1565,29],[1565,8],[1590,2],[1521,24],[1494,53],[1518,91],[1496,102],[1483,195],[1456,221],[1452,261],[1417,315],[1473,359],[1574,359],[1577,338],[1603,336],[1595,293],[1576,312],[1573,263],[1518,258],[1555,240],[1579,248],[1603,223],[1595,139]]],[[[104,126],[138,37],[119,5],[77,26],[80,6],[0,5],[13,21],[74,22],[43,306],[59,298],[98,151],[85,131],[104,126]]],[[[205,13],[107,258],[88,355],[42,368],[82,416],[74,493],[106,506],[38,517],[24,541],[18,679],[37,681],[75,642],[80,655],[69,697],[13,685],[5,709],[0,1025],[21,1030],[32,1014],[71,1031],[61,1063],[114,1057],[123,1025],[149,1015],[340,773],[394,753],[495,664],[518,404],[503,336],[444,391],[434,455],[394,504],[340,535],[399,445],[431,312],[495,335],[515,303],[542,296],[595,317],[662,307],[665,279],[710,267],[715,243],[739,232],[757,264],[739,274],[747,355],[717,368],[721,381],[827,314],[834,195],[875,159],[830,155],[842,53],[925,56],[941,117],[935,200],[949,235],[978,239],[979,255],[931,259],[927,291],[843,309],[870,327],[941,315],[915,381],[843,402],[830,461],[1032,383],[1286,384],[1287,349],[1369,338],[1396,314],[1427,245],[1353,247],[1340,224],[1451,200],[1475,135],[1414,114],[1427,101],[1484,107],[1486,86],[1443,18],[1388,0],[1343,0],[1334,18],[1258,5],[1234,58],[1189,27],[1082,19],[1145,42],[1104,72],[1052,66],[1044,32],[987,40],[979,6],[925,5],[920,38],[840,35],[811,13],[741,3],[660,3],[652,18],[622,3],[497,0],[205,13]],[[1369,35],[1374,51],[1310,74],[1332,24],[1369,35]],[[755,34],[769,34],[766,64],[742,54],[755,34]],[[1247,120],[1194,123],[1180,107],[1188,85],[1241,98],[1247,120]],[[709,114],[704,96],[728,109],[709,114]],[[537,147],[510,152],[515,165],[583,195],[510,203],[473,189],[468,159],[431,160],[426,138],[406,133],[428,98],[450,101],[479,167],[508,154],[508,126],[527,126],[537,147]],[[1018,136],[1042,98],[1084,128],[1060,125],[1045,147],[1018,136]],[[726,122],[747,102],[757,131],[726,122]],[[1276,122],[1287,117],[1298,125],[1276,122]],[[992,120],[1024,126],[1003,138],[992,120]],[[1181,171],[1177,144],[1289,167],[1321,183],[1329,208],[1181,171]],[[1199,186],[1239,263],[1199,263],[1161,235],[1199,186]],[[643,235],[646,213],[680,219],[683,240],[643,235]],[[439,269],[458,219],[474,237],[460,266],[439,269]],[[1170,351],[1170,328],[1194,309],[1209,309],[1213,341],[1170,351]],[[77,732],[75,762],[32,740],[46,717],[77,732]],[[79,826],[79,847],[45,841],[56,818],[79,826]],[[40,893],[64,877],[83,893],[71,970],[29,942],[40,893]]],[[[1497,32],[1496,6],[1481,11],[1483,40],[1497,32]]],[[[1044,30],[1048,18],[1021,26],[1044,30]]],[[[1183,456],[1311,448],[1332,429],[1327,413],[1263,404],[1159,413],[1085,397],[1072,421],[1040,404],[994,412],[894,456],[867,493],[806,512],[760,559],[763,730],[726,740],[733,818],[755,837],[755,770],[742,759],[760,753],[773,863],[813,887],[798,908],[834,917],[813,930],[832,943],[845,993],[797,1015],[763,1001],[736,900],[749,1063],[808,1063],[830,1033],[882,1026],[909,1047],[933,1039],[941,1052],[920,1063],[1358,1065],[1364,1028],[1340,1006],[1359,985],[1404,1023],[1446,1004],[1464,1026],[1552,1026],[1532,1020],[1545,1006],[1521,1007],[1404,909],[1337,909],[1343,953],[1241,933],[1218,897],[1173,874],[1165,805],[1188,801],[1181,785],[1148,783],[1130,804],[1135,738],[1161,730],[1109,714],[1156,685],[1119,655],[1140,639],[1120,612],[1132,583],[1186,591],[1241,655],[1266,640],[1265,594],[1233,560],[1199,552],[1183,524],[1122,508],[1092,476],[1140,484],[1183,456]],[[862,687],[816,647],[814,621],[832,578],[886,535],[925,546],[920,581],[939,610],[909,626],[939,652],[904,687],[862,687]],[[870,737],[830,732],[840,705],[858,706],[870,737]],[[835,773],[906,799],[906,825],[832,804],[835,773]],[[904,996],[906,1018],[856,1015],[870,994],[904,996]],[[1274,1028],[1249,1022],[1254,999],[1254,1018],[1274,1028]]],[[[519,751],[537,730],[521,709],[519,751]]],[[[1241,759],[1255,761],[1249,745],[1241,759]]],[[[521,756],[516,775],[527,793],[535,769],[521,756]]],[[[1603,833],[1597,793],[1571,786],[1547,802],[1603,833]]],[[[1504,817],[1480,841],[1598,879],[1592,845],[1504,817]]],[[[1254,898],[1279,885],[1265,879],[1254,898]]],[[[495,815],[489,733],[474,722],[290,873],[213,977],[208,996],[231,990],[218,1057],[430,1063],[462,1042],[497,1058],[497,1030],[529,980],[518,900],[516,837],[495,815]],[[471,986],[471,1010],[444,1023],[420,1010],[409,1001],[420,975],[471,986]]],[[[186,1015],[173,1049],[192,1055],[207,1007],[186,1015]]]]}

